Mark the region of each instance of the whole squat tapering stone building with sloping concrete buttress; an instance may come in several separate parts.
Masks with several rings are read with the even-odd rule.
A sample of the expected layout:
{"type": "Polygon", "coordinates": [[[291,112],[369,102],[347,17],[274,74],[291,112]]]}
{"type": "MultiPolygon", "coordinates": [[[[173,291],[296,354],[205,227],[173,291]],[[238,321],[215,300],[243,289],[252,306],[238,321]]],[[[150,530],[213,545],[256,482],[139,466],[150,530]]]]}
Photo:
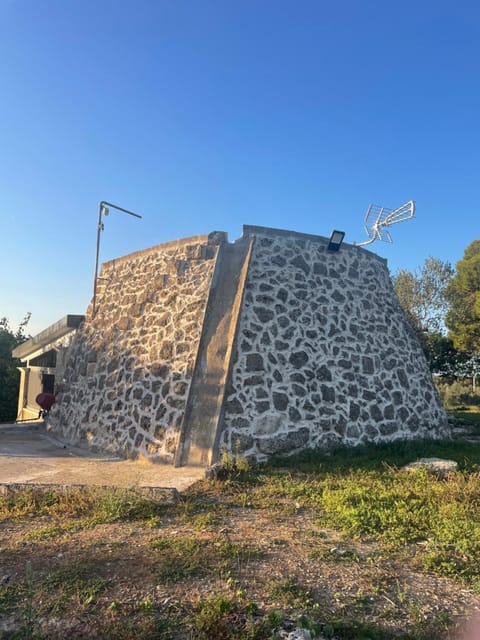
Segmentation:
{"type": "Polygon", "coordinates": [[[177,465],[447,435],[386,261],[328,242],[244,226],[105,263],[50,427],[177,465]]]}

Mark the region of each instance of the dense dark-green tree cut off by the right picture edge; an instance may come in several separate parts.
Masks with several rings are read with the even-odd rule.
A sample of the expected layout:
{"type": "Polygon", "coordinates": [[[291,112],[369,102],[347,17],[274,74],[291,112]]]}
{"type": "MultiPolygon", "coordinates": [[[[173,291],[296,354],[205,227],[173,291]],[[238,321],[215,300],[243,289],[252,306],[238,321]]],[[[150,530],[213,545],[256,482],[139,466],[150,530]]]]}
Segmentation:
{"type": "Polygon", "coordinates": [[[474,240],[457,262],[446,291],[449,311],[445,324],[460,351],[480,353],[480,240],[474,240]]]}

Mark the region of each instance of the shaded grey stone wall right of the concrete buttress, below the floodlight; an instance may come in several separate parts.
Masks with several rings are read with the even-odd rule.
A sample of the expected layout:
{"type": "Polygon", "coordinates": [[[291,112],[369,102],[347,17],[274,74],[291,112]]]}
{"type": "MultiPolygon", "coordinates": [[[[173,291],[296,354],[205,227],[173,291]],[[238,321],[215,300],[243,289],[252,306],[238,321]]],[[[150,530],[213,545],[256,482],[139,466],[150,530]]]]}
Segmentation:
{"type": "Polygon", "coordinates": [[[252,458],[446,435],[386,262],[328,240],[256,237],[224,408],[223,446],[252,458]]]}

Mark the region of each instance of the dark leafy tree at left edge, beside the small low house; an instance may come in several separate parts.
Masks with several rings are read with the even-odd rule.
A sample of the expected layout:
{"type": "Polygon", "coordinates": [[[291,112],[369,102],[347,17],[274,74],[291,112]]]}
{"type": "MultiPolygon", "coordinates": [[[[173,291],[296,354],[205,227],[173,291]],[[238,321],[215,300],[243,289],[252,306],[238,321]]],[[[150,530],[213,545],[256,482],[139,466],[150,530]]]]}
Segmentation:
{"type": "Polygon", "coordinates": [[[13,422],[17,416],[18,385],[20,373],[17,367],[20,361],[12,358],[12,349],[25,342],[25,328],[30,320],[30,313],[13,332],[7,318],[0,318],[0,423],[13,422]]]}

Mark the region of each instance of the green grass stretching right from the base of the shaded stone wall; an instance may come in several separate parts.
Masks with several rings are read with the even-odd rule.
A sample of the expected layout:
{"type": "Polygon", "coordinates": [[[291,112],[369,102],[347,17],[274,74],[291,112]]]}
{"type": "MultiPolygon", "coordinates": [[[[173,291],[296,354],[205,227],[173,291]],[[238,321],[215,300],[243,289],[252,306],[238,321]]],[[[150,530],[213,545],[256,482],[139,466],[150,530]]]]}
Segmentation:
{"type": "Polygon", "coordinates": [[[422,542],[426,569],[479,589],[479,463],[480,446],[470,443],[395,442],[305,452],[250,470],[226,489],[237,504],[282,517],[312,509],[321,525],[391,549],[422,542]],[[459,471],[439,479],[402,470],[421,457],[454,459],[459,471]]]}

